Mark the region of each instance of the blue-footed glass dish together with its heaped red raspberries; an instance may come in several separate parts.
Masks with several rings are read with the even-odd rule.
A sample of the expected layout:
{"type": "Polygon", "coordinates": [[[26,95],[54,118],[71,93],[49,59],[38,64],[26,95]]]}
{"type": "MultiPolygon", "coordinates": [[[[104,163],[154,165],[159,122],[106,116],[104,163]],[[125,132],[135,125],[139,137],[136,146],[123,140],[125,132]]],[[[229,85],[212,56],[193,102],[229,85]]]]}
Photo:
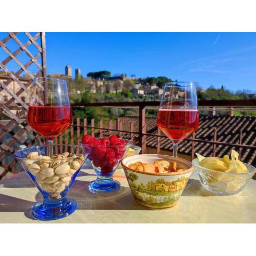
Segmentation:
{"type": "Polygon", "coordinates": [[[116,135],[109,138],[84,135],[82,146],[91,149],[89,159],[97,174],[97,179],[89,184],[92,193],[109,192],[120,188],[120,183],[113,179],[113,174],[131,145],[131,140],[119,139],[116,135]]]}

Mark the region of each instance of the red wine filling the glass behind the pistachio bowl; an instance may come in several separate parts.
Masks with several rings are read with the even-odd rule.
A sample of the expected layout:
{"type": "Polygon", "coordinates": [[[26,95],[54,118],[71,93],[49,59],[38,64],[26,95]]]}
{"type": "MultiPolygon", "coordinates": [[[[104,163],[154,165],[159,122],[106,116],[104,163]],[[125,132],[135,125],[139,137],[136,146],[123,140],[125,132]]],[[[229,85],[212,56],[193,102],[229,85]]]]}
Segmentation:
{"type": "Polygon", "coordinates": [[[72,122],[70,107],[29,106],[28,124],[48,139],[59,136],[72,122]]]}

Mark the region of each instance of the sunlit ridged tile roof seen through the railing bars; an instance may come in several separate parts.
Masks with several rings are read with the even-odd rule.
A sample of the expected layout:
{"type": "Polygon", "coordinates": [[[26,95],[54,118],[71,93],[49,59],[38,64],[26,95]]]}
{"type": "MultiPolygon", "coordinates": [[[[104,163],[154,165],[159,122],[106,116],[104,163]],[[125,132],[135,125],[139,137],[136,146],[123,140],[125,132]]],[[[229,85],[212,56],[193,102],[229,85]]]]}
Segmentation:
{"type": "MultiPolygon", "coordinates": [[[[139,131],[138,116],[121,118],[123,130],[130,131],[130,123],[134,123],[134,131],[139,131]]],[[[147,133],[157,133],[156,117],[146,117],[147,133]]],[[[243,130],[242,143],[256,145],[256,117],[249,116],[210,116],[199,117],[199,128],[196,131],[196,139],[213,140],[213,128],[217,127],[217,140],[228,143],[239,143],[239,131],[243,130]]],[[[122,137],[130,138],[130,134],[124,133],[122,137]]],[[[138,135],[135,135],[138,138],[138,135]]],[[[156,148],[157,137],[147,136],[147,147],[156,148]]],[[[161,149],[172,150],[172,142],[166,137],[161,138],[161,149]]],[[[237,147],[217,146],[216,156],[230,155],[231,149],[238,151],[237,147]]],[[[195,143],[195,152],[204,156],[212,156],[213,146],[209,143],[195,143]]],[[[182,141],[179,145],[179,153],[191,154],[191,142],[182,141]]],[[[242,149],[241,160],[256,166],[256,150],[242,149]]]]}

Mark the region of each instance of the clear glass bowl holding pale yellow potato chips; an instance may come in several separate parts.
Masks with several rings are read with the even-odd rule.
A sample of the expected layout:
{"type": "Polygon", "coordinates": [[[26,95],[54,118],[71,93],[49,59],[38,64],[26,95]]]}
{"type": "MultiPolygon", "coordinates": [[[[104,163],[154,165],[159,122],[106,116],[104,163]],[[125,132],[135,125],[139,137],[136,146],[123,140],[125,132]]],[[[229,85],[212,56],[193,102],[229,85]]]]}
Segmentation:
{"type": "Polygon", "coordinates": [[[199,166],[198,159],[192,161],[200,183],[207,190],[221,195],[233,195],[241,191],[256,172],[255,167],[245,164],[248,173],[214,171],[199,166]]]}

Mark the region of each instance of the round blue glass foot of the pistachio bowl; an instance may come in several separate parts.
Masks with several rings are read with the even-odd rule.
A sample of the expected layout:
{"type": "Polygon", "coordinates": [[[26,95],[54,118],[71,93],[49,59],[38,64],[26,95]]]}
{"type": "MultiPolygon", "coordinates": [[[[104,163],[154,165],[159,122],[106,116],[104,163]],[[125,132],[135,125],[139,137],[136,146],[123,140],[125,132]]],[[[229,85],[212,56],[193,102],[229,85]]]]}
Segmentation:
{"type": "Polygon", "coordinates": [[[58,220],[67,217],[77,209],[77,203],[70,198],[39,202],[33,206],[31,215],[37,220],[58,220]]]}

